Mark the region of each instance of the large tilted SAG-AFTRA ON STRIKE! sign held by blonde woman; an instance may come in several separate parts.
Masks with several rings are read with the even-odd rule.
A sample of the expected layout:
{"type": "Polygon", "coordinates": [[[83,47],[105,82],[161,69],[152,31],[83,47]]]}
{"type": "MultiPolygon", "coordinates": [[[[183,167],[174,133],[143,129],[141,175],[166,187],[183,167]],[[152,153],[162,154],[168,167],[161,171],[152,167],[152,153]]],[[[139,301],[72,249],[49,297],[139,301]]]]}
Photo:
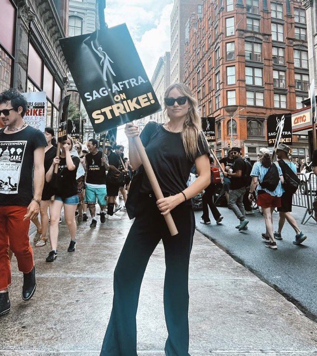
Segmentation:
{"type": "Polygon", "coordinates": [[[161,110],[125,24],[60,44],[96,134],[161,110]]]}

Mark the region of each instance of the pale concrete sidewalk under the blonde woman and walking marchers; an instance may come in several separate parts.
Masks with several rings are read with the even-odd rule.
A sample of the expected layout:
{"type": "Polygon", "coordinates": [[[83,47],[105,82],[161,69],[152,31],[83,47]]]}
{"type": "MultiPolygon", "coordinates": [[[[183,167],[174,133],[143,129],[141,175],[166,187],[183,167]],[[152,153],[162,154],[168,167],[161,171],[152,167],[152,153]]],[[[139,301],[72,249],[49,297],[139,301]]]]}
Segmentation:
{"type": "MultiPolygon", "coordinates": [[[[12,259],[11,311],[0,318],[1,356],[99,355],[112,303],[112,275],[131,222],[89,222],[68,253],[60,226],[58,257],[34,248],[37,290],[21,299],[22,275],[12,259]]],[[[31,239],[32,240],[32,239],[31,239]]],[[[133,251],[131,251],[133,253],[133,251]]],[[[137,315],[138,354],[163,356],[164,250],[147,267],[137,315]]],[[[292,303],[196,232],[190,268],[191,356],[317,355],[317,325],[292,303]]]]}

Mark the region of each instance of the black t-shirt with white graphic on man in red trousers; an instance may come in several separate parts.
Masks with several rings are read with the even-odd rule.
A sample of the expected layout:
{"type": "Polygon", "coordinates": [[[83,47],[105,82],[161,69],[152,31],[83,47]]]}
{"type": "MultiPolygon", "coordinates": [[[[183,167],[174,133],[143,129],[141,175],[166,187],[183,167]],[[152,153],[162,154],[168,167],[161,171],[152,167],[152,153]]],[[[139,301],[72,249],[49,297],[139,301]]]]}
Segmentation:
{"type": "Polygon", "coordinates": [[[13,133],[0,130],[0,205],[28,206],[33,198],[34,151],[47,146],[43,132],[31,126],[13,133]]]}

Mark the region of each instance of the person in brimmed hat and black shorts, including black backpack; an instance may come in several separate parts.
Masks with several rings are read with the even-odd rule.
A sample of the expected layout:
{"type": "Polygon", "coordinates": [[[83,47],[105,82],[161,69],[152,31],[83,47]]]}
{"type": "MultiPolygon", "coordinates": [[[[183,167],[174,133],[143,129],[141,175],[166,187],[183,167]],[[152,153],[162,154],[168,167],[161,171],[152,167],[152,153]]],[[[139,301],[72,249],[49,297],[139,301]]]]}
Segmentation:
{"type": "Polygon", "coordinates": [[[276,240],[283,240],[281,233],[286,219],[296,232],[295,241],[293,241],[293,244],[300,245],[307,239],[307,236],[300,230],[297,221],[291,214],[293,194],[297,191],[300,185],[300,179],[297,177],[295,164],[289,160],[290,151],[290,147],[283,143],[279,144],[276,150],[278,158],[277,163],[281,167],[284,183],[282,184],[282,205],[277,209],[280,214],[279,227],[278,230],[274,232],[274,237],[276,240]]]}

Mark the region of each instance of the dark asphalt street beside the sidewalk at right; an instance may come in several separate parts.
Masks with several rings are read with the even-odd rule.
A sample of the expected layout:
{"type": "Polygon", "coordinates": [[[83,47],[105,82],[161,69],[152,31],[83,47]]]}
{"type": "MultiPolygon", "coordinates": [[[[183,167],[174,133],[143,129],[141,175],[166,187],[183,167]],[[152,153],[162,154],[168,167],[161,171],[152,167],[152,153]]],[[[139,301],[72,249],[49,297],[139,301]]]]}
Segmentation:
{"type": "MultiPolygon", "coordinates": [[[[258,210],[247,215],[248,230],[238,232],[234,227],[238,220],[232,211],[219,208],[224,216],[221,225],[215,225],[211,215],[211,225],[201,224],[201,212],[196,212],[196,225],[217,246],[248,267],[262,280],[284,293],[294,303],[299,303],[313,320],[317,320],[317,223],[313,218],[306,225],[300,222],[304,208],[293,206],[293,215],[300,229],[307,235],[301,246],[293,245],[295,233],[286,222],[282,231],[282,241],[277,240],[278,250],[266,249],[261,233],[265,232],[264,217],[258,210]]],[[[273,215],[274,229],[278,226],[278,213],[273,215]]]]}

